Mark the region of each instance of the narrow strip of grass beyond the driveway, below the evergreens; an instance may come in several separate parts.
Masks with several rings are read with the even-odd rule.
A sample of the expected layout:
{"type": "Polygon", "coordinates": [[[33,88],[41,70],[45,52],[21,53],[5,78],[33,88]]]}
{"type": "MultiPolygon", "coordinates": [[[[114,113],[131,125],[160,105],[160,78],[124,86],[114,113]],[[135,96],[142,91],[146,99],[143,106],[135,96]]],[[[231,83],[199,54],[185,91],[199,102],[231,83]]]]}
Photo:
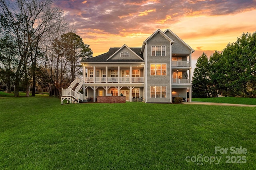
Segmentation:
{"type": "Polygon", "coordinates": [[[246,98],[246,97],[193,98],[192,101],[214,102],[214,103],[234,103],[234,104],[244,104],[244,105],[256,105],[256,98],[246,98]]]}

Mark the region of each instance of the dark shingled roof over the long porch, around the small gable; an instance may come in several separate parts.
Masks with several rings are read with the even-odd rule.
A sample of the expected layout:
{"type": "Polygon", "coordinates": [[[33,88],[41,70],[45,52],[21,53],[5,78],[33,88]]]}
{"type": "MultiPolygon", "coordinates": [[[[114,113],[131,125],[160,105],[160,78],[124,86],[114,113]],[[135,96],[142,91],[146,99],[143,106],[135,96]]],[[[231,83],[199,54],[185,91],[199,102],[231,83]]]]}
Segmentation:
{"type": "Polygon", "coordinates": [[[136,55],[139,56],[138,59],[111,59],[111,60],[107,60],[110,56],[112,56],[114,53],[116,53],[116,51],[118,51],[120,49],[120,47],[114,47],[114,48],[110,48],[108,50],[108,52],[98,55],[96,57],[92,57],[92,58],[88,58],[86,60],[81,61],[82,63],[102,63],[102,62],[143,62],[144,58],[143,55],[140,54],[141,48],[130,48],[134,53],[136,53],[136,55]],[[142,61],[143,60],[143,61],[142,61]]]}

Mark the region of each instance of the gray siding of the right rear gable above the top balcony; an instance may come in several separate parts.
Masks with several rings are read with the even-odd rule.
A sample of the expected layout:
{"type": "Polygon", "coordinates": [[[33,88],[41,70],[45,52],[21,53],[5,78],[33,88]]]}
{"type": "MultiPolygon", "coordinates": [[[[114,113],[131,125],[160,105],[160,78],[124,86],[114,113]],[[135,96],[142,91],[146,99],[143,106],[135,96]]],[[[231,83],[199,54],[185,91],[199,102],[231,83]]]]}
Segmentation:
{"type": "Polygon", "coordinates": [[[180,40],[170,34],[170,32],[166,32],[165,34],[174,41],[174,44],[172,44],[173,54],[190,54],[191,50],[186,47],[186,45],[184,45],[182,42],[180,42],[180,40]]]}

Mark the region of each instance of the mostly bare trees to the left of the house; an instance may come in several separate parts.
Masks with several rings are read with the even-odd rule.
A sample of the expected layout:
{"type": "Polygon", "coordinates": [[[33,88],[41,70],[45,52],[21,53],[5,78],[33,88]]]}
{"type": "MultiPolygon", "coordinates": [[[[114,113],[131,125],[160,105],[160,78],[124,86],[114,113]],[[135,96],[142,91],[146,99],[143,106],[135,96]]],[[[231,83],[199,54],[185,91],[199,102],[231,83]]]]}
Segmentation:
{"type": "Polygon", "coordinates": [[[92,50],[66,22],[63,10],[52,0],[0,0],[0,83],[14,96],[36,86],[60,96],[82,74],[81,59],[92,50]]]}

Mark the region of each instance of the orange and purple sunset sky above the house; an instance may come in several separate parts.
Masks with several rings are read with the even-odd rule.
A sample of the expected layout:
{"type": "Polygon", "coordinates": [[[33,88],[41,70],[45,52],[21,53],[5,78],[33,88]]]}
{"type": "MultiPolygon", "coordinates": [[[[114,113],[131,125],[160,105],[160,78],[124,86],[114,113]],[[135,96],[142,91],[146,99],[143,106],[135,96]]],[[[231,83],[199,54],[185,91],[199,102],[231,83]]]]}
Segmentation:
{"type": "Polygon", "coordinates": [[[208,56],[256,31],[256,0],[57,0],[93,56],[110,47],[142,47],[156,30],[169,28],[195,52],[208,56]]]}

